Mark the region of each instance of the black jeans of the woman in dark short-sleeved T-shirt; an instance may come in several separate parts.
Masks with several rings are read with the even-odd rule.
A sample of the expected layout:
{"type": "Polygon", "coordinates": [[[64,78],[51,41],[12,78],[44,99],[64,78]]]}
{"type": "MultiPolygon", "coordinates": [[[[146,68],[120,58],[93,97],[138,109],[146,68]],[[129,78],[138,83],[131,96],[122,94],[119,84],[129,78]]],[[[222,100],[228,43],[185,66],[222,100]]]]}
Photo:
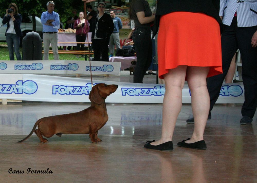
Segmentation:
{"type": "Polygon", "coordinates": [[[152,63],[152,39],[150,28],[137,27],[132,36],[136,48],[134,83],[143,83],[145,72],[152,63]]]}

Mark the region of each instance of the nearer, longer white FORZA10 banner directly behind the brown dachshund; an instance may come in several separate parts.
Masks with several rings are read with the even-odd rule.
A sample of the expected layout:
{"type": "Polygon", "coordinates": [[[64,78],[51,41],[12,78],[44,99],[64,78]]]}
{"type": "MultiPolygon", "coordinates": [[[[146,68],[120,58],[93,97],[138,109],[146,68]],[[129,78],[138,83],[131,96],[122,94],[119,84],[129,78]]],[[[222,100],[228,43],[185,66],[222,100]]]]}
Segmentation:
{"type": "MultiPolygon", "coordinates": [[[[161,84],[121,83],[93,80],[97,83],[116,84],[118,89],[107,97],[112,103],[162,103],[165,86],[161,84]]],[[[27,74],[0,74],[0,98],[46,101],[90,102],[89,79],[27,74]]],[[[223,84],[217,103],[243,103],[243,84],[223,84]]],[[[191,103],[188,85],[182,90],[182,103],[191,103]]]]}

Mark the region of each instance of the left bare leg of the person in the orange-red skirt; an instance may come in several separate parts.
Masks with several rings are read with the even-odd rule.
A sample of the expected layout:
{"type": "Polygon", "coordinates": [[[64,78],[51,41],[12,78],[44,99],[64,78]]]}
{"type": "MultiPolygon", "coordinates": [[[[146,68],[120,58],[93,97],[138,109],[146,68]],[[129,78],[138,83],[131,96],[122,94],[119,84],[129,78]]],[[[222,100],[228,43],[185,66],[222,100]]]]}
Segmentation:
{"type": "Polygon", "coordinates": [[[151,145],[159,145],[172,141],[173,131],[178,114],[182,106],[182,89],[185,84],[187,66],[178,66],[170,69],[164,75],[165,95],[162,107],[162,135],[161,139],[151,145]]]}

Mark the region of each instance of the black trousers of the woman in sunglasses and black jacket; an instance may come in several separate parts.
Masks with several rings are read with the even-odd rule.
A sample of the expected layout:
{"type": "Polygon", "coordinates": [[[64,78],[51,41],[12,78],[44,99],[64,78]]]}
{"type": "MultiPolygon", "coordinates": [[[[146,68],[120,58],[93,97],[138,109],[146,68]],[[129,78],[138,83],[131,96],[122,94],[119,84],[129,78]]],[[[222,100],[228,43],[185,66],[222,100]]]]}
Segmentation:
{"type": "Polygon", "coordinates": [[[109,61],[108,44],[109,44],[109,38],[92,39],[92,46],[94,50],[95,61],[100,61],[101,54],[102,54],[102,61],[106,61],[106,62],[109,61]]]}

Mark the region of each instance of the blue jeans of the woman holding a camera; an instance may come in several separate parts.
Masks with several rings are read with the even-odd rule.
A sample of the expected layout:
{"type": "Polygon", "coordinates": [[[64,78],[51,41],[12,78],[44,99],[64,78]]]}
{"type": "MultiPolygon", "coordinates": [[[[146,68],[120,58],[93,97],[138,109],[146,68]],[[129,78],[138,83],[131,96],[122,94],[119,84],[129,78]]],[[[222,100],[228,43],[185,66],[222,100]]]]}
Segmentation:
{"type": "Polygon", "coordinates": [[[14,60],[13,50],[17,60],[22,60],[20,54],[20,37],[17,34],[6,33],[6,42],[9,50],[10,60],[14,60]]]}

